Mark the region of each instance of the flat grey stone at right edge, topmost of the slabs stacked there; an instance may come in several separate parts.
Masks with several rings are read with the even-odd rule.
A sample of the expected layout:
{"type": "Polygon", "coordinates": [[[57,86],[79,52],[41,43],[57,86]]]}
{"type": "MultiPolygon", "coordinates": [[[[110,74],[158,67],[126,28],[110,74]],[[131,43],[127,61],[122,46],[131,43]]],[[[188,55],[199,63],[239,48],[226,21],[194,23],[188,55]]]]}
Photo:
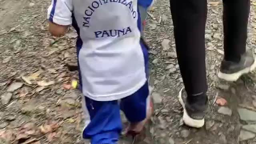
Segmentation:
{"type": "Polygon", "coordinates": [[[245,108],[238,108],[238,113],[241,120],[256,121],[256,112],[245,108]]]}

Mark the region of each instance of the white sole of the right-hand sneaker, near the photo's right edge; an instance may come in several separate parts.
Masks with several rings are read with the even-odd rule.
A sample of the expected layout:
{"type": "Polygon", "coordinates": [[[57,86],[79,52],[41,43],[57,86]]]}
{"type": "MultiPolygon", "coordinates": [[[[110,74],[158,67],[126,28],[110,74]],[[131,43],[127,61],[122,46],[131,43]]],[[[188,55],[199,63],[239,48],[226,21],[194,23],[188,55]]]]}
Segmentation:
{"type": "Polygon", "coordinates": [[[252,72],[253,70],[255,70],[255,68],[256,68],[256,58],[254,60],[254,63],[252,64],[252,66],[250,66],[248,68],[245,68],[243,70],[240,70],[239,72],[236,72],[236,73],[233,73],[233,74],[225,74],[225,73],[222,73],[222,72],[219,71],[218,72],[218,77],[223,79],[223,80],[229,81],[229,82],[235,82],[242,75],[248,74],[249,72],[252,72]]]}

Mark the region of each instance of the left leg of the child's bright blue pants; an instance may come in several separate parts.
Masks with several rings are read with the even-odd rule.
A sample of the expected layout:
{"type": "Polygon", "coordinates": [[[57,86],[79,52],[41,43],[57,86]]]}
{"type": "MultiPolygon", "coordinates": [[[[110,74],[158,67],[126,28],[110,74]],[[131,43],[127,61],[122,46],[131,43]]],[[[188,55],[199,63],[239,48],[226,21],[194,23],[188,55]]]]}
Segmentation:
{"type": "Polygon", "coordinates": [[[83,131],[83,138],[91,139],[91,144],[117,144],[122,130],[117,100],[100,102],[85,97],[85,104],[90,122],[83,131]]]}

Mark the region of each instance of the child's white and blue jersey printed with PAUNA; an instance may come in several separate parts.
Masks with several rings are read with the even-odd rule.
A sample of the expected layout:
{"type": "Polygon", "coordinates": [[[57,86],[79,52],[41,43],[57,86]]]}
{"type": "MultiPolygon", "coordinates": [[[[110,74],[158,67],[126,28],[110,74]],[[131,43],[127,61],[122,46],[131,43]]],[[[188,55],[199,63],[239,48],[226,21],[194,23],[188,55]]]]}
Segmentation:
{"type": "Polygon", "coordinates": [[[146,82],[137,0],[52,0],[48,19],[73,25],[84,96],[125,98],[146,82]]]}

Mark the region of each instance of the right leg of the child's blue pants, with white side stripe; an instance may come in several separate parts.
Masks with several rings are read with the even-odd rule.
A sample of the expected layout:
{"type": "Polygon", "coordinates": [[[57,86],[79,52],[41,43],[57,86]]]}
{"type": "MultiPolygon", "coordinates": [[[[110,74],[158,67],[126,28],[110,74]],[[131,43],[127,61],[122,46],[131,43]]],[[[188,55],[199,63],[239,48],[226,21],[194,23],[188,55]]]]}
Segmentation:
{"type": "Polygon", "coordinates": [[[148,82],[134,94],[123,98],[120,102],[120,107],[129,122],[141,122],[144,120],[149,108],[148,82]]]}

